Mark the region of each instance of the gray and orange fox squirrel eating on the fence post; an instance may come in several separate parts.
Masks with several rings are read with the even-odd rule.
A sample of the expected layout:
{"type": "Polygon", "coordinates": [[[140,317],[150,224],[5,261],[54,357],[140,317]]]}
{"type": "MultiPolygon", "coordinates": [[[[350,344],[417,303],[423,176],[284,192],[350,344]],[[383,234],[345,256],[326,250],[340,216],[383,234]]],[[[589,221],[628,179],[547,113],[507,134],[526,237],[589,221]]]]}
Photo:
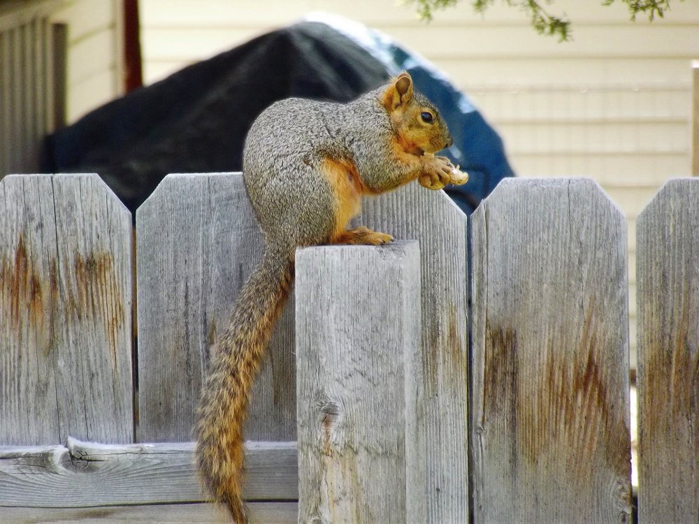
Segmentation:
{"type": "Polygon", "coordinates": [[[265,251],[215,344],[196,427],[203,480],[236,523],[247,522],[241,485],[250,389],[289,296],[296,248],[393,240],[366,227],[347,229],[361,197],[415,179],[428,189],[463,184],[466,173],[434,156],[450,145],[447,126],[408,73],[346,104],[278,101],[252,124],[243,179],[265,251]]]}

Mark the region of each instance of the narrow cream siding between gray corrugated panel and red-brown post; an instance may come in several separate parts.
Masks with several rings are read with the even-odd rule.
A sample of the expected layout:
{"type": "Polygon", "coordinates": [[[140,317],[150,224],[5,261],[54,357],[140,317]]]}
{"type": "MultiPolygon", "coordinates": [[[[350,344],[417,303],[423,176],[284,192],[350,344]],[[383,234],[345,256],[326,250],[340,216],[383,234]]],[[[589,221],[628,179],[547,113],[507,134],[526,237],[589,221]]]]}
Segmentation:
{"type": "Polygon", "coordinates": [[[121,0],[71,0],[52,15],[68,24],[66,120],[123,93],[121,0]]]}

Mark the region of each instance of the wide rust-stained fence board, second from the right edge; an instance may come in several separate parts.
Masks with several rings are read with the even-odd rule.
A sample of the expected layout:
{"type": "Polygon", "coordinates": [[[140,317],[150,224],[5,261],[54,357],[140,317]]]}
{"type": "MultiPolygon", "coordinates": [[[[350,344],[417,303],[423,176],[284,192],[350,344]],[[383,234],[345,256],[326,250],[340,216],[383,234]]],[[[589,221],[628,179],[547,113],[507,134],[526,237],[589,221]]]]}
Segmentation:
{"type": "Polygon", "coordinates": [[[472,218],[475,521],[628,522],[624,217],[591,180],[510,179],[472,218]]]}

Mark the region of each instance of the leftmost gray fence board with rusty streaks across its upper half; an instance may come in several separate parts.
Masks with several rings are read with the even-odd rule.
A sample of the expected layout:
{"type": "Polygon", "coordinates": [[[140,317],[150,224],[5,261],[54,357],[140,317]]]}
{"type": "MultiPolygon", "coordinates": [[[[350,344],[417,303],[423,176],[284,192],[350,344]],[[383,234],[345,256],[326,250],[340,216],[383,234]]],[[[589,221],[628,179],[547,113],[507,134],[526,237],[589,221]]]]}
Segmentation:
{"type": "Polygon", "coordinates": [[[97,175],[0,181],[0,444],[132,442],[131,214],[97,175]]]}

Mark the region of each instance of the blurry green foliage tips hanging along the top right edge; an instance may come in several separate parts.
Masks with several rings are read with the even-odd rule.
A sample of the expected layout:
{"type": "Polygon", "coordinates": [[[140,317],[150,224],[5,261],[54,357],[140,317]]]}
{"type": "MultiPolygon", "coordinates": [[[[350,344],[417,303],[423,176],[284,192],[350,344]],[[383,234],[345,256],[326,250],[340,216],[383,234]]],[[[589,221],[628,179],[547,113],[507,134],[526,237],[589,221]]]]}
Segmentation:
{"type": "MultiPolygon", "coordinates": [[[[422,20],[432,20],[433,12],[456,6],[461,0],[407,0],[415,5],[417,14],[422,20]]],[[[565,15],[552,15],[545,5],[554,3],[555,0],[500,0],[507,6],[517,7],[530,19],[532,27],[539,33],[547,36],[557,36],[559,41],[570,40],[570,20],[565,15]]],[[[649,20],[663,17],[665,11],[670,9],[670,0],[601,0],[603,6],[611,6],[615,1],[621,1],[628,6],[631,20],[636,20],[639,13],[647,13],[649,20]]],[[[684,0],[680,0],[684,1],[684,0]]],[[[485,11],[496,0],[470,0],[476,13],[485,11]]]]}

